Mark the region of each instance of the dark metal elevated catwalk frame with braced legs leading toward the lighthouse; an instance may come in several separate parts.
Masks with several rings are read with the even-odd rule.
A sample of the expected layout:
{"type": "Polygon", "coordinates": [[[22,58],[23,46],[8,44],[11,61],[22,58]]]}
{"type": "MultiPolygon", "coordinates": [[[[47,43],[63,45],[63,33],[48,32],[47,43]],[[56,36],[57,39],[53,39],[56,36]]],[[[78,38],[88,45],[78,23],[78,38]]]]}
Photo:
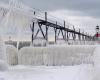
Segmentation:
{"type": "MultiPolygon", "coordinates": [[[[34,12],[35,14],[35,12],[34,12]]],[[[51,23],[47,20],[47,12],[45,12],[45,20],[42,19],[38,19],[38,30],[36,31],[36,34],[34,34],[34,22],[33,25],[31,27],[31,31],[32,31],[32,43],[33,41],[38,37],[38,33],[39,31],[41,31],[42,34],[42,38],[45,39],[48,42],[48,30],[49,27],[54,28],[54,34],[55,34],[55,43],[57,42],[57,40],[59,40],[59,35],[62,35],[62,40],[64,41],[69,41],[70,35],[72,35],[72,39],[75,41],[76,40],[76,35],[78,35],[78,40],[83,40],[83,41],[88,41],[88,40],[94,40],[93,36],[89,36],[88,34],[84,34],[84,32],[81,33],[80,29],[79,31],[76,31],[74,26],[73,26],[73,30],[66,28],[66,23],[64,21],[64,26],[60,26],[56,23],[51,23]],[[42,29],[42,26],[45,26],[45,31],[42,29]]]]}

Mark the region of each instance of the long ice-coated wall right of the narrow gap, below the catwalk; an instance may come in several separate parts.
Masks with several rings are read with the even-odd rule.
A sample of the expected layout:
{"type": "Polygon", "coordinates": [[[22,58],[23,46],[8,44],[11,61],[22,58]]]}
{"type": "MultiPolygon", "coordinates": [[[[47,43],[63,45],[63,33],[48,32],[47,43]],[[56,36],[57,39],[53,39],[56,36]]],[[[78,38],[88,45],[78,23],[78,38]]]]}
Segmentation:
{"type": "Polygon", "coordinates": [[[79,65],[93,64],[95,46],[24,47],[19,51],[21,65],[79,65]]]}

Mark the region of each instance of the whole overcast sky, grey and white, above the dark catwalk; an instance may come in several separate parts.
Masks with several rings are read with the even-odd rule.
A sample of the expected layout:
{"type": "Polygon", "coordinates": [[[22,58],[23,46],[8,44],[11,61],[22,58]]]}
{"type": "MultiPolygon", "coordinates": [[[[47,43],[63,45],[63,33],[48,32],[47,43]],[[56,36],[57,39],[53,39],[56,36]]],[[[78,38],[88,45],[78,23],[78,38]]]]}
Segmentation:
{"type": "Polygon", "coordinates": [[[22,0],[30,7],[48,11],[76,27],[93,33],[100,24],[100,0],[22,0]]]}

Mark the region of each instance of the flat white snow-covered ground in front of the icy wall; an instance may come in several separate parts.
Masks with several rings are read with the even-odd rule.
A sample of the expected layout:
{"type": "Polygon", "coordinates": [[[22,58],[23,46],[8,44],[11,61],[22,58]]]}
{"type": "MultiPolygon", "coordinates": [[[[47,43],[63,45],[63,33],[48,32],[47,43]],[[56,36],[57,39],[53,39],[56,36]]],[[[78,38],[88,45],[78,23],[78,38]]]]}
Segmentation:
{"type": "Polygon", "coordinates": [[[0,80],[93,80],[93,72],[93,65],[15,66],[1,72],[0,80]]]}

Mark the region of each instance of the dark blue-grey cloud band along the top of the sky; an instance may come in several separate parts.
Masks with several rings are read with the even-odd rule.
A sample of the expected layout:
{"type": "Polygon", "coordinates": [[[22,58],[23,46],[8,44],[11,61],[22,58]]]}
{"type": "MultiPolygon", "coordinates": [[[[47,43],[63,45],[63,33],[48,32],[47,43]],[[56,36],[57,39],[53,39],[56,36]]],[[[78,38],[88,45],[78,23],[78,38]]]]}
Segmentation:
{"type": "Polygon", "coordinates": [[[23,0],[23,2],[45,11],[66,9],[81,11],[86,16],[100,18],[100,0],[23,0]]]}

